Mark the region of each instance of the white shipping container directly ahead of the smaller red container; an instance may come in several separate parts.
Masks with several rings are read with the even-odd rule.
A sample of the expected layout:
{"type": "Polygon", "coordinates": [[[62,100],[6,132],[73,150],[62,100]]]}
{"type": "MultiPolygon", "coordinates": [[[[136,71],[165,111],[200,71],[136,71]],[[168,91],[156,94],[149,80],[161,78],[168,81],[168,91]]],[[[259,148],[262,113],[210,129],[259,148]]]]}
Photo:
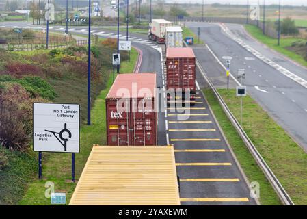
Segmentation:
{"type": "Polygon", "coordinates": [[[166,48],[183,47],[183,29],[181,27],[166,27],[166,48]]]}

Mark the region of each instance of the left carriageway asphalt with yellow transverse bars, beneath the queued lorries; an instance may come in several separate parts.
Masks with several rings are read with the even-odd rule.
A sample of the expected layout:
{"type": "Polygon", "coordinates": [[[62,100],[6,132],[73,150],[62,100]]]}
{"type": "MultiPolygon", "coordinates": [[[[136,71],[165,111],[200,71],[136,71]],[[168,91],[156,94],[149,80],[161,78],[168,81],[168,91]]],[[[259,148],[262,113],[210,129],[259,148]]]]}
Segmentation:
{"type": "MultiPolygon", "coordinates": [[[[51,31],[63,31],[62,28],[53,27],[51,31]]],[[[104,31],[99,27],[92,29],[101,38],[116,37],[114,31],[104,31]]],[[[69,31],[87,34],[83,27],[69,31]]],[[[125,37],[124,33],[120,34],[125,37]]],[[[132,45],[143,53],[139,72],[157,73],[158,87],[165,88],[165,60],[161,47],[148,42],[146,35],[131,34],[129,37],[132,45]]],[[[204,81],[200,73],[196,78],[202,86],[204,81]]],[[[200,90],[198,103],[187,109],[191,114],[187,120],[178,120],[181,113],[165,109],[163,93],[160,97],[158,144],[174,144],[182,205],[256,205],[200,90]]]]}

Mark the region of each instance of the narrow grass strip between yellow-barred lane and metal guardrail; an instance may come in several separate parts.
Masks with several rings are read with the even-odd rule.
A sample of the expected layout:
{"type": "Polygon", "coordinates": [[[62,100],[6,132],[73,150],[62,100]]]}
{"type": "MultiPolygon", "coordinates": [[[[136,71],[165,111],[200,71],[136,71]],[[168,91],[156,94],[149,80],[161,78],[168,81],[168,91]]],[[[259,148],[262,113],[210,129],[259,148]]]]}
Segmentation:
{"type": "Polygon", "coordinates": [[[261,168],[256,164],[256,161],[250,154],[250,151],[246,148],[244,142],[241,140],[235,127],[233,127],[230,120],[228,120],[228,117],[219,105],[212,90],[204,90],[204,94],[238,159],[241,168],[245,172],[246,177],[248,177],[248,181],[257,181],[259,183],[259,201],[261,202],[261,205],[281,205],[282,203],[280,203],[277,194],[271,187],[269,181],[265,178],[265,175],[263,175],[261,168]]]}

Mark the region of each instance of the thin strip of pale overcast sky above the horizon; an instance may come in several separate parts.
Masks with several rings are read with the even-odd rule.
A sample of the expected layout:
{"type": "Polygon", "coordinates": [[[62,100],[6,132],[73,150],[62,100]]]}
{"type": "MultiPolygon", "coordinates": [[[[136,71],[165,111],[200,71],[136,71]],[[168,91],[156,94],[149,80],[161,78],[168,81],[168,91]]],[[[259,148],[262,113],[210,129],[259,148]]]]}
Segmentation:
{"type": "MultiPolygon", "coordinates": [[[[168,3],[173,3],[174,0],[166,0],[168,3]]],[[[202,3],[202,0],[175,0],[178,3],[202,3]]],[[[257,3],[258,0],[249,0],[250,3],[257,3]]],[[[260,3],[263,3],[263,0],[259,0],[260,3]]],[[[282,5],[305,5],[307,6],[307,0],[281,0],[282,5]]],[[[230,4],[243,4],[246,5],[247,0],[204,0],[205,3],[230,3],[230,4]]],[[[278,4],[279,0],[266,0],[268,5],[278,4]]]]}

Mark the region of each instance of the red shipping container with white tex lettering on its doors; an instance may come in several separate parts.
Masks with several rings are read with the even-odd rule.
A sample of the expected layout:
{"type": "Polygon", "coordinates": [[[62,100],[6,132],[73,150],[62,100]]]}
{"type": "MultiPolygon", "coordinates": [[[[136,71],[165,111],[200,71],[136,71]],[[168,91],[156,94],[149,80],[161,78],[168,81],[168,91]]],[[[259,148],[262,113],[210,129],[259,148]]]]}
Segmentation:
{"type": "Polygon", "coordinates": [[[156,74],[120,74],[107,94],[108,145],[157,145],[156,74]]]}

